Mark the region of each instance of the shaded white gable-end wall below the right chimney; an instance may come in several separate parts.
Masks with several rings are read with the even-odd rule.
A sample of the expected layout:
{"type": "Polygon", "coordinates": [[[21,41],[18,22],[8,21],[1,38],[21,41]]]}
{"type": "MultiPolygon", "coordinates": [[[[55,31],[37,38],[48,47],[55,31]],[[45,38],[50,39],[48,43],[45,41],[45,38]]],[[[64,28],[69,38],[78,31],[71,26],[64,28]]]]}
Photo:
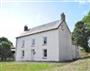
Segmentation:
{"type": "Polygon", "coordinates": [[[73,49],[71,46],[71,34],[65,23],[62,23],[59,27],[59,59],[60,61],[72,60],[73,49]],[[63,27],[62,27],[63,26],[63,27]],[[62,31],[62,28],[64,29],[62,31]]]}

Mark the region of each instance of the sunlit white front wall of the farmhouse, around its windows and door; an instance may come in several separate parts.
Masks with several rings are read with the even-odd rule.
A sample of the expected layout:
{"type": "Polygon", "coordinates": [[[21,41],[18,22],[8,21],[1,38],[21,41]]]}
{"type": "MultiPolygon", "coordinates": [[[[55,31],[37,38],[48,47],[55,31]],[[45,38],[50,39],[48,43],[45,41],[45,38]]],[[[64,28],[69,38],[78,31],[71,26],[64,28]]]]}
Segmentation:
{"type": "Polygon", "coordinates": [[[31,60],[31,49],[35,49],[34,61],[59,61],[58,30],[47,31],[17,39],[16,60],[31,60]],[[43,46],[43,37],[47,37],[47,45],[43,46]],[[35,39],[35,47],[32,47],[35,39]],[[25,47],[21,48],[25,40],[25,47]],[[47,59],[43,59],[43,49],[47,49],[47,59]],[[25,57],[21,58],[21,50],[25,50],[25,57]]]}

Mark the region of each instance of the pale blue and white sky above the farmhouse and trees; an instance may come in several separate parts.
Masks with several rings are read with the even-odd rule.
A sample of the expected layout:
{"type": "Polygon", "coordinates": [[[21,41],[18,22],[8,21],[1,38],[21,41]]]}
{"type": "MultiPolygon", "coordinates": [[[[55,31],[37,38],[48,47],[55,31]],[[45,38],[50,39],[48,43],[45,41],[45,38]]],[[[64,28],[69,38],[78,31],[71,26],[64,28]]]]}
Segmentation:
{"type": "Polygon", "coordinates": [[[71,31],[90,11],[89,0],[0,0],[0,37],[15,46],[16,37],[29,28],[60,20],[62,12],[71,31]]]}

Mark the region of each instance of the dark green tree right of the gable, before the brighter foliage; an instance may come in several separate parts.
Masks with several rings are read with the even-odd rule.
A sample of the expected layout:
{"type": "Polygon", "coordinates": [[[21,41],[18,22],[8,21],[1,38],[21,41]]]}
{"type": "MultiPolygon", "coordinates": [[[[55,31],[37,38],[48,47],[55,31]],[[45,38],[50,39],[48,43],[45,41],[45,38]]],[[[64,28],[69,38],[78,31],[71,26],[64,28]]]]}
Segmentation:
{"type": "Polygon", "coordinates": [[[89,37],[89,30],[84,22],[79,21],[75,24],[75,29],[72,32],[72,41],[73,44],[84,48],[86,52],[90,52],[90,48],[88,46],[88,37],[89,37]]]}

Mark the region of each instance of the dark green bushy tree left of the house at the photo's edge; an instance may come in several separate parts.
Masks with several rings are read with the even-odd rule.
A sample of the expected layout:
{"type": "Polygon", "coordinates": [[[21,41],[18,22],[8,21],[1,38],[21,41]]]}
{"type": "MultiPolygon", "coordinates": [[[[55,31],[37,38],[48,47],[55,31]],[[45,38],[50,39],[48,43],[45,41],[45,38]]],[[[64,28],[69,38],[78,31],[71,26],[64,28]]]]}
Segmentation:
{"type": "Polygon", "coordinates": [[[10,48],[12,45],[12,42],[9,41],[7,38],[0,38],[0,57],[2,61],[6,60],[7,57],[10,57],[10,55],[12,55],[10,48]]]}

